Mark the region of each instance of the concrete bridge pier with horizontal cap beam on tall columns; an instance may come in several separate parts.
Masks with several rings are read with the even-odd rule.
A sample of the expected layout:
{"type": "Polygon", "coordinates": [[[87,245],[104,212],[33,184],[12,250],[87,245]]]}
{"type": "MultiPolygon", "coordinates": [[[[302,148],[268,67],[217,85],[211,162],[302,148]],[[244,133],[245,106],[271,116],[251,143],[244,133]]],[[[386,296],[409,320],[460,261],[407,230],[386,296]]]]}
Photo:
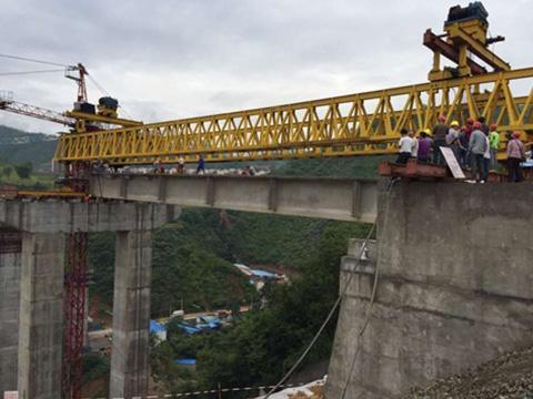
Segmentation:
{"type": "Polygon", "coordinates": [[[1,393],[61,398],[67,237],[118,232],[110,391],[120,398],[147,395],[150,232],[175,216],[173,207],[158,204],[0,201],[2,232],[20,232],[22,242],[9,252],[0,246],[1,393]]]}

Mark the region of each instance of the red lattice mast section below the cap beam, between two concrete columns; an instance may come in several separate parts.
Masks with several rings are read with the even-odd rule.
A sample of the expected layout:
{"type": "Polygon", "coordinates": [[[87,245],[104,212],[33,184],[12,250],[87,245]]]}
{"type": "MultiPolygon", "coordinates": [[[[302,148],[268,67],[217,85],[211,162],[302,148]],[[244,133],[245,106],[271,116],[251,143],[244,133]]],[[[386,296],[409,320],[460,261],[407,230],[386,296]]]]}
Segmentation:
{"type": "Polygon", "coordinates": [[[87,233],[70,235],[70,269],[64,275],[63,399],[81,399],[87,294],[87,233]]]}

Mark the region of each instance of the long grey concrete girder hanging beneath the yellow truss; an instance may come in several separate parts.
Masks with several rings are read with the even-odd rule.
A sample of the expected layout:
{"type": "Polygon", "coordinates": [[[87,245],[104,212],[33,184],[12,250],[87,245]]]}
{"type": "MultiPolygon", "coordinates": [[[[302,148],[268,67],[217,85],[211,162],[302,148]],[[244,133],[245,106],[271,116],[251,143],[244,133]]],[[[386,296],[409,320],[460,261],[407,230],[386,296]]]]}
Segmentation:
{"type": "Polygon", "coordinates": [[[376,217],[378,181],[332,177],[93,175],[92,195],[352,222],[376,217]]]}

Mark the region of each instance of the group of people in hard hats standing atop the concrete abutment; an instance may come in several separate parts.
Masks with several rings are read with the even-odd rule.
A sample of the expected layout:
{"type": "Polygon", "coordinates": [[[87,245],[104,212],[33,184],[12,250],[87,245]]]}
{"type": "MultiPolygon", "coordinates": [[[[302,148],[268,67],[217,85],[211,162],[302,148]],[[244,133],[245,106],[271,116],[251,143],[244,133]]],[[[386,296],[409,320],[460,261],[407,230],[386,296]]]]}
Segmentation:
{"type": "MultiPolygon", "coordinates": [[[[415,137],[414,131],[402,129],[396,163],[404,164],[410,158],[420,163],[432,162],[445,165],[441,147],[450,149],[461,167],[470,170],[472,182],[485,183],[490,171],[497,171],[500,133],[497,125],[485,123],[483,116],[469,117],[461,126],[457,121],[447,125],[446,116],[440,115],[433,130],[425,129],[415,137]]],[[[520,141],[520,132],[507,132],[507,172],[510,182],[523,180],[521,162],[525,160],[525,146],[520,141]]]]}

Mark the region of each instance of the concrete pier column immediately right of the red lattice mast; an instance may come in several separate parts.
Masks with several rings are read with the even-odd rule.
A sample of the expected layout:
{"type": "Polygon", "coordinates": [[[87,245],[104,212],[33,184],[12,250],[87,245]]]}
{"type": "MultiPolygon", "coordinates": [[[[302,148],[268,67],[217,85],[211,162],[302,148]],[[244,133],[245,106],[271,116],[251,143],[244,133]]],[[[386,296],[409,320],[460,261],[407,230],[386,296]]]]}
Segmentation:
{"type": "Polygon", "coordinates": [[[110,397],[129,399],[148,392],[151,233],[119,232],[115,254],[110,397]]]}

